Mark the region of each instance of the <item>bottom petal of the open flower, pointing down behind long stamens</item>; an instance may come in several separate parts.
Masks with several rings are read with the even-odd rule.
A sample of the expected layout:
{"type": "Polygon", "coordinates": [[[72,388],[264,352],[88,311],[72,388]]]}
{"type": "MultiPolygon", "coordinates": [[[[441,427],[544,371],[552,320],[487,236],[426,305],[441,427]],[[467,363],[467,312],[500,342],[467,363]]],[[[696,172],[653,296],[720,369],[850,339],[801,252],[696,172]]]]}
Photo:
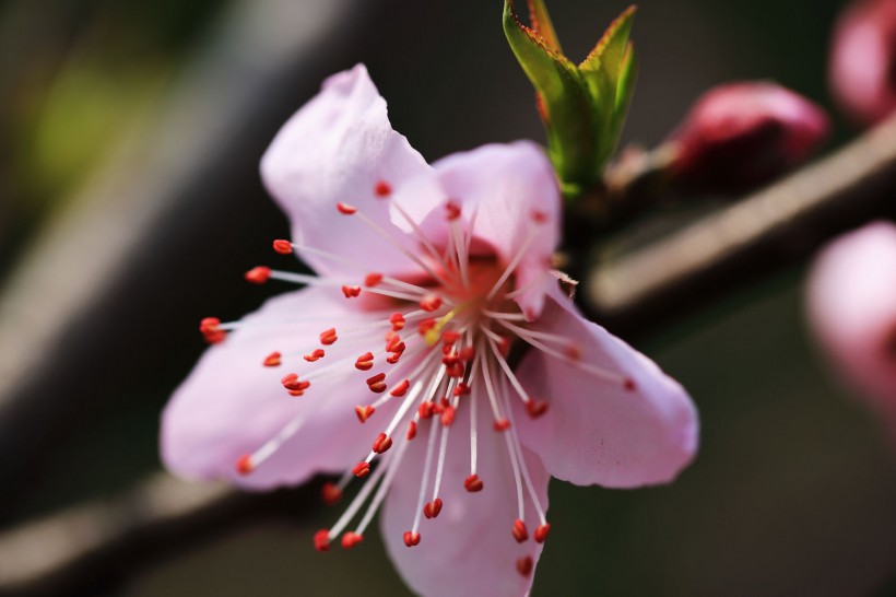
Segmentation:
{"type": "MultiPolygon", "coordinates": [[[[507,444],[503,435],[492,431],[483,410],[487,409],[480,409],[478,466],[485,485],[482,491],[469,493],[463,489],[463,480],[470,475],[470,431],[469,419],[462,417],[451,428],[439,492],[444,508],[437,518],[423,518],[418,546],[406,547],[403,534],[411,529],[417,510],[427,433],[409,446],[386,500],[381,527],[389,555],[405,583],[426,597],[520,597],[531,586],[534,567],[532,574],[522,576],[516,567],[517,559],[529,555],[538,563],[541,554],[542,546],[531,538],[538,518],[528,497],[526,523],[530,538],[520,545],[511,535],[517,493],[507,444]]],[[[539,500],[542,507],[547,507],[550,477],[538,457],[526,452],[539,500]]]]}

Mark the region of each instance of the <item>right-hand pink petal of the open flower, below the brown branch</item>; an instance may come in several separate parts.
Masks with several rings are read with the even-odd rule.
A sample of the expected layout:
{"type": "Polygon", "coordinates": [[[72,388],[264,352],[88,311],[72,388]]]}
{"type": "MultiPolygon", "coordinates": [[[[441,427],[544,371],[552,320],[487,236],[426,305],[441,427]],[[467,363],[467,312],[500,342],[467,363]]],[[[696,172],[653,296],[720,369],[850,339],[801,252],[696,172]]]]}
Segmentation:
{"type": "Polygon", "coordinates": [[[539,350],[523,358],[520,382],[550,406],[535,420],[520,409],[519,433],[552,476],[634,488],[669,482],[691,463],[698,441],[696,409],[652,361],[586,320],[559,291],[552,291],[531,328],[564,337],[578,347],[582,363],[634,382],[626,389],[539,350]]]}

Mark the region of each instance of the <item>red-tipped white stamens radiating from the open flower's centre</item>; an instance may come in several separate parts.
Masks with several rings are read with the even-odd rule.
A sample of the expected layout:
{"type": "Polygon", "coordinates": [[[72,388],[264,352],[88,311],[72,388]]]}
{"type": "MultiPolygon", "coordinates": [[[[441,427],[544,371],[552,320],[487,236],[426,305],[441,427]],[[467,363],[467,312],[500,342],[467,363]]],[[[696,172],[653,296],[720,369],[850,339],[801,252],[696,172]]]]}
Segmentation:
{"type": "MultiPolygon", "coordinates": [[[[391,188],[387,183],[376,184],[377,197],[388,199],[390,192],[391,188]]],[[[339,481],[323,485],[323,501],[334,504],[340,501],[352,479],[365,480],[339,520],[331,528],[315,535],[315,546],[320,551],[328,551],[332,541],[341,536],[342,547],[349,549],[363,540],[364,531],[388,493],[403,455],[408,449],[417,449],[410,446],[422,434],[426,438],[425,445],[418,448],[425,450],[425,459],[417,507],[412,516],[409,513],[409,530],[403,535],[409,548],[420,545],[422,519],[435,519],[443,510],[439,490],[449,450],[449,432],[462,419],[470,424],[471,455],[469,475],[462,481],[463,488],[470,493],[488,491],[488,479],[480,478],[476,471],[478,434],[481,431],[476,429],[478,408],[491,410],[492,431],[504,436],[507,453],[503,458],[509,465],[516,485],[517,517],[508,529],[508,539],[524,543],[531,538],[541,543],[551,527],[514,429],[511,401],[520,400],[524,412],[533,419],[544,414],[549,403],[531,396],[519,382],[508,361],[511,350],[518,347],[541,350],[598,377],[615,381],[628,389],[634,384],[615,372],[583,362],[581,348],[569,339],[530,329],[528,318],[515,302],[527,289],[514,289],[514,272],[522,254],[541,233],[541,226],[546,221],[543,213],[531,214],[529,237],[522,243],[519,255],[507,264],[499,264],[495,257],[471,255],[475,213],[464,230],[461,207],[457,202],[447,201],[445,204],[449,234],[447,242],[438,244],[428,238],[399,204],[393,204],[413,229],[422,255],[397,243],[356,207],[339,203],[337,209],[346,216],[359,220],[363,225],[401,250],[427,274],[426,283],[410,283],[380,272],[359,272],[356,279],[317,278],[276,271],[264,266],[246,273],[246,279],[251,283],[264,283],[274,279],[307,285],[333,285],[341,290],[347,301],[358,301],[369,294],[386,297],[391,307],[365,312],[365,315],[369,315],[369,323],[356,329],[325,329],[316,341],[295,354],[274,350],[267,355],[259,355],[263,366],[291,370],[282,376],[281,384],[287,396],[303,397],[307,394],[303,400],[315,399],[314,386],[317,378],[333,373],[350,375],[351,370],[369,373],[364,382],[372,400],[355,407],[359,424],[368,424],[380,409],[388,408],[391,412],[386,424],[372,434],[372,447],[367,456],[339,481]],[[342,356],[331,356],[328,351],[340,341],[340,335],[351,346],[361,346],[361,350],[350,356],[345,356],[344,352],[342,356]],[[299,373],[300,371],[307,373],[299,373]],[[403,432],[399,432],[400,428],[403,432]],[[534,512],[526,512],[526,497],[534,512]],[[357,526],[353,530],[346,530],[368,500],[368,507],[357,526]],[[531,534],[526,520],[537,523],[531,534]]],[[[295,251],[347,264],[347,260],[337,255],[314,247],[293,245],[287,241],[274,241],[273,248],[281,255],[295,251]]],[[[545,276],[547,274],[545,270],[545,276]]],[[[544,280],[535,282],[543,284],[544,280]]],[[[382,304],[381,300],[377,304],[382,304]]],[[[366,307],[359,307],[362,311],[363,308],[366,307]]],[[[205,318],[200,330],[209,342],[216,343],[225,339],[228,330],[239,326],[239,323],[222,324],[215,318],[205,318]]],[[[364,395],[363,386],[359,386],[358,395],[364,395]]],[[[256,452],[239,458],[236,463],[237,471],[250,475],[263,466],[288,438],[300,431],[309,412],[313,411],[303,411],[303,414],[290,421],[256,452]]],[[[523,555],[516,561],[516,570],[524,576],[531,574],[532,567],[531,555],[523,555]]]]}

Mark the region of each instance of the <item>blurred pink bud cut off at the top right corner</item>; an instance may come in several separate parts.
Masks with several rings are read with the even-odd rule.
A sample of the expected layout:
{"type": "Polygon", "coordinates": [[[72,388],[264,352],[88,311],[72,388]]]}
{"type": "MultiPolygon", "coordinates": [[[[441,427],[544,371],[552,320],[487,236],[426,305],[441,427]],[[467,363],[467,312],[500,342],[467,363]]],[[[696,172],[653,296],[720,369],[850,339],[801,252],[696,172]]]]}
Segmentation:
{"type": "Polygon", "coordinates": [[[896,108],[896,0],[853,2],[837,21],[830,90],[857,121],[872,125],[896,108]]]}

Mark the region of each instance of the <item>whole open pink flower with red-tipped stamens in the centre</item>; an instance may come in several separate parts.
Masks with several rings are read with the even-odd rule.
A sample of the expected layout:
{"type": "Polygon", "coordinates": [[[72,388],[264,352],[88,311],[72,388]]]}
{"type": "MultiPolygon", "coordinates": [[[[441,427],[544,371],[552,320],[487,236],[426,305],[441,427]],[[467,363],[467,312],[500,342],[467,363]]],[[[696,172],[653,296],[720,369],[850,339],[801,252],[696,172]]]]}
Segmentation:
{"type": "Polygon", "coordinates": [[[261,172],[293,224],[275,248],[318,276],[256,268],[250,281],[307,288],[203,321],[219,344],[164,413],[172,470],[259,490],[342,473],[328,502],[362,478],[318,549],[355,546],[382,504],[414,590],[503,596],[531,585],[550,475],[634,488],[691,461],[685,391],[552,274],[561,200],[539,147],[428,166],[358,66],[284,126],[261,172]]]}

